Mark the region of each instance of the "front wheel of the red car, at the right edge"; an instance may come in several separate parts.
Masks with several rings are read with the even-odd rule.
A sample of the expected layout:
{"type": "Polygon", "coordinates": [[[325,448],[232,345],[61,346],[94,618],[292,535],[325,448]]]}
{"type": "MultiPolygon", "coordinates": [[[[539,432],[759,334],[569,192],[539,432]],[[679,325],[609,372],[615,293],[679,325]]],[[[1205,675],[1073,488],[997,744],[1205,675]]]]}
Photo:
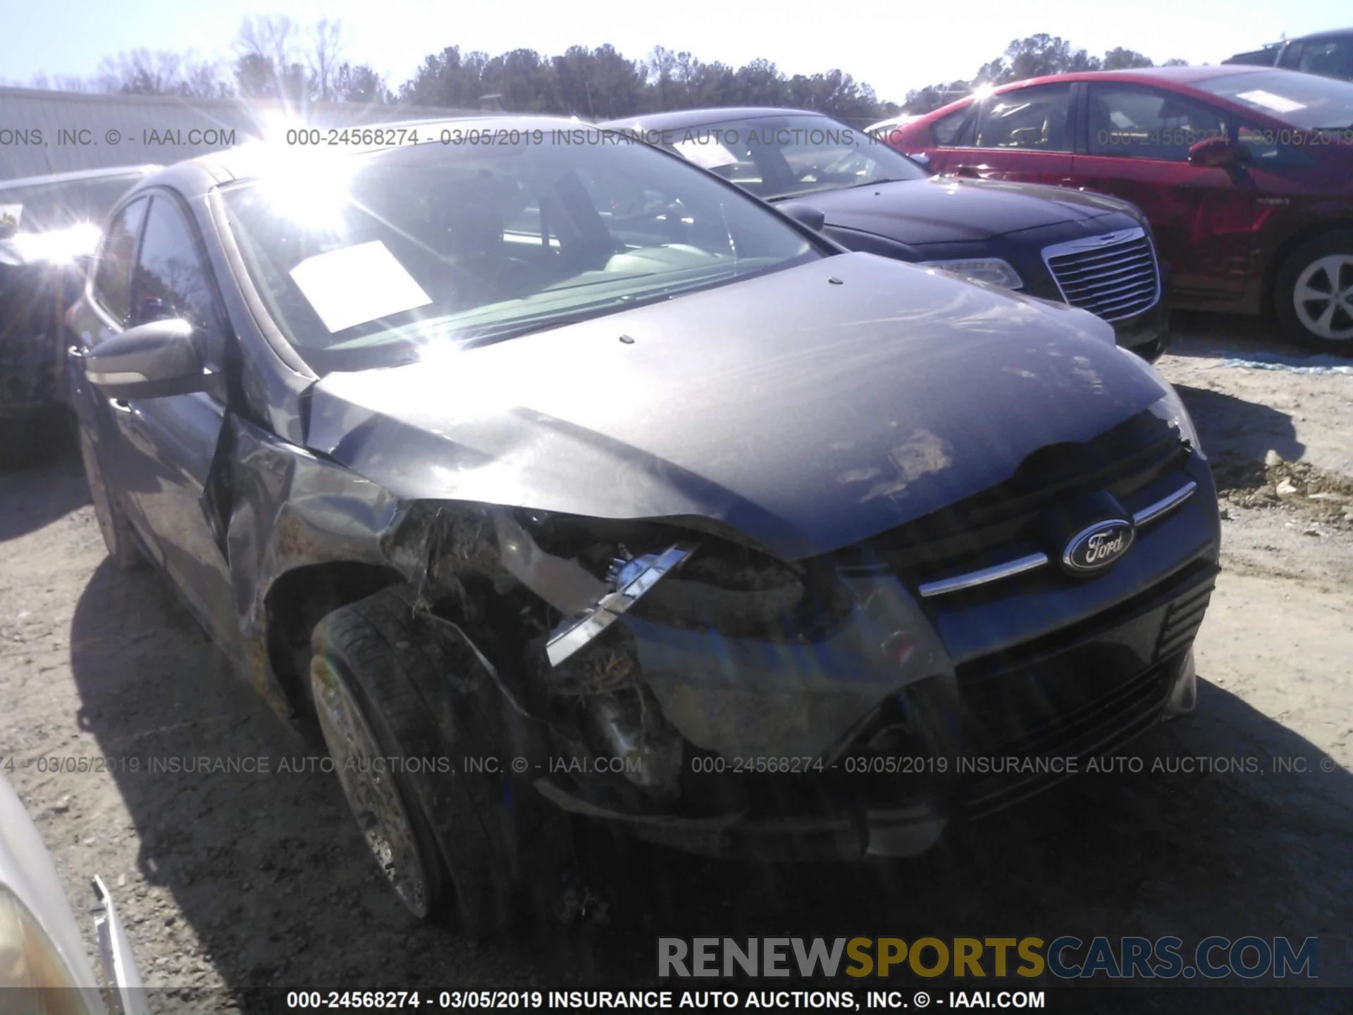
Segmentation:
{"type": "Polygon", "coordinates": [[[1353,233],[1325,233],[1292,252],[1277,273],[1273,306],[1292,338],[1353,356],[1353,233]]]}

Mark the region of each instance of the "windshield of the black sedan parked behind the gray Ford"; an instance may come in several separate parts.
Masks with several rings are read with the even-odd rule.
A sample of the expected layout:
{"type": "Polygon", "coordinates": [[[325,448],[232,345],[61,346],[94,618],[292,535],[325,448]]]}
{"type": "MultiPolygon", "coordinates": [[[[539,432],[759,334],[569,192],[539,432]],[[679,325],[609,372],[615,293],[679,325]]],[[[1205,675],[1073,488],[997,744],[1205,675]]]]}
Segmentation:
{"type": "Polygon", "coordinates": [[[930,175],[881,139],[827,116],[723,120],[664,131],[663,141],[767,200],[930,175]]]}

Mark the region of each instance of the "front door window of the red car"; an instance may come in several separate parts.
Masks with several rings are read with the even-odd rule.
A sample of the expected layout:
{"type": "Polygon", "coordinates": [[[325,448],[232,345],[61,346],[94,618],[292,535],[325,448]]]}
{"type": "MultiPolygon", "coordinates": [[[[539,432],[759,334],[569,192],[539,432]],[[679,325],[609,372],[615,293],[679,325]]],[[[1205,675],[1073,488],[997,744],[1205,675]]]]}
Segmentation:
{"type": "Polygon", "coordinates": [[[1188,161],[1199,141],[1227,137],[1220,110],[1172,92],[1092,84],[1089,152],[1124,158],[1188,161]]]}

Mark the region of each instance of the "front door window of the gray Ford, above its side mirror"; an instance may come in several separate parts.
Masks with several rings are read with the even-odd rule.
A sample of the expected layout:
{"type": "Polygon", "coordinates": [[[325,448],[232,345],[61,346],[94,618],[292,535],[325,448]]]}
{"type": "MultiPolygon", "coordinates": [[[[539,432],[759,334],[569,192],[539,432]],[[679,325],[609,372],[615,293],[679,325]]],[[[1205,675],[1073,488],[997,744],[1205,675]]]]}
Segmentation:
{"type": "Polygon", "coordinates": [[[207,336],[207,359],[221,365],[222,329],[207,269],[173,199],[156,196],[133,272],[131,323],[181,317],[207,336]]]}

